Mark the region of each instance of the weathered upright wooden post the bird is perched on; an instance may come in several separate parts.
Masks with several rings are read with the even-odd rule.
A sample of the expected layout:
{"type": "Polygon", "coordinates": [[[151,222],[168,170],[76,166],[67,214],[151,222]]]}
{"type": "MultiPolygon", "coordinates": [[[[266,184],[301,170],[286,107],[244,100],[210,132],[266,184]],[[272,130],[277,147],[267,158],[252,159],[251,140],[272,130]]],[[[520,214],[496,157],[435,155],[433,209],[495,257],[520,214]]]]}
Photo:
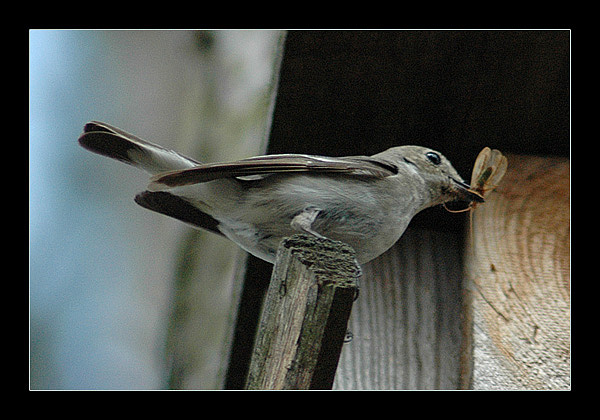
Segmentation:
{"type": "Polygon", "coordinates": [[[282,241],[247,389],[331,389],[360,266],[352,248],[307,235],[282,241]]]}

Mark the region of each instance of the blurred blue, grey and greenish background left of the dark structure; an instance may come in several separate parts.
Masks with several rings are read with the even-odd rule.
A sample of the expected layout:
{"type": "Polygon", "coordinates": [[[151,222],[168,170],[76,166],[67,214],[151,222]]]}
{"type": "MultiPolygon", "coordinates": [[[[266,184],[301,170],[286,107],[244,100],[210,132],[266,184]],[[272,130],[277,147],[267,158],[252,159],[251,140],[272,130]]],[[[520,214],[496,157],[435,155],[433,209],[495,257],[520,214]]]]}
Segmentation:
{"type": "Polygon", "coordinates": [[[31,389],[218,387],[240,251],[136,205],[146,174],[77,138],[99,120],[202,161],[261,153],[283,36],[30,31],[31,389]]]}

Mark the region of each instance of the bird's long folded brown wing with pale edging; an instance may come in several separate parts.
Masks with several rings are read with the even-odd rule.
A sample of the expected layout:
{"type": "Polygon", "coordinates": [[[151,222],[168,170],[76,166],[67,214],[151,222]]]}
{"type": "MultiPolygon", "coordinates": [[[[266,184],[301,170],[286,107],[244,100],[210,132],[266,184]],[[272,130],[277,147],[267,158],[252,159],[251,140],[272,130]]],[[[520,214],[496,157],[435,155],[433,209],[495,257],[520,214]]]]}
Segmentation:
{"type": "Polygon", "coordinates": [[[177,187],[221,178],[242,178],[292,172],[385,178],[395,175],[398,169],[388,162],[366,156],[332,158],[284,154],[257,156],[236,162],[205,164],[190,169],[161,173],[152,177],[151,180],[156,187],[160,188],[161,184],[163,187],[177,187]]]}

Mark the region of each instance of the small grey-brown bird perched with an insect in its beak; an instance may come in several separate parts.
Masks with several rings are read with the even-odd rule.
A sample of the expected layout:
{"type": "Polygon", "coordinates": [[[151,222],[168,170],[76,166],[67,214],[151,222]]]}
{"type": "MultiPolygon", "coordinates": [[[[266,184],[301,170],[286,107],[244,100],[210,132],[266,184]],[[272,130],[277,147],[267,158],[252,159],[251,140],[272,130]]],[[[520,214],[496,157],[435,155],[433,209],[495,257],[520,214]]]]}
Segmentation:
{"type": "Polygon", "coordinates": [[[95,121],[79,143],[152,175],[135,197],[142,207],[223,234],[271,263],[283,238],[307,232],[350,245],[362,264],[394,245],[421,210],[483,202],[444,156],[420,146],[203,164],[95,121]]]}

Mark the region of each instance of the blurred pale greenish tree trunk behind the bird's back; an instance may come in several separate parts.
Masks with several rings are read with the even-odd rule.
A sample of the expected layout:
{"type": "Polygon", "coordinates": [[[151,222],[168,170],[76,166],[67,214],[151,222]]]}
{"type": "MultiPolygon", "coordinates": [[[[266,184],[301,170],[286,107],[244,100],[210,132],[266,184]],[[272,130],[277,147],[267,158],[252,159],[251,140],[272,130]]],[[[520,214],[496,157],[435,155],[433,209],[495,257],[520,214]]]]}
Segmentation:
{"type": "MultiPolygon", "coordinates": [[[[197,80],[182,97],[178,150],[204,162],[264,153],[277,88],[280,31],[200,31],[197,80]],[[187,150],[186,150],[187,146],[187,150]]],[[[168,387],[220,388],[245,252],[218,235],[182,228],[168,321],[168,387]]]]}

